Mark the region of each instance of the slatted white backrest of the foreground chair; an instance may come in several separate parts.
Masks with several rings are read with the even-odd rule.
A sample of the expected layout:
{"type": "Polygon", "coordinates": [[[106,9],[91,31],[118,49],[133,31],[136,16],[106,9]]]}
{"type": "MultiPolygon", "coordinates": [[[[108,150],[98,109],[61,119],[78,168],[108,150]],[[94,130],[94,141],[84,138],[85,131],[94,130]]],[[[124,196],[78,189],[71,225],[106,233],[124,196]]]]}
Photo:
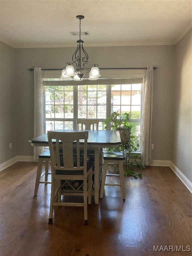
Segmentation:
{"type": "Polygon", "coordinates": [[[47,131],[47,137],[52,170],[83,170],[86,173],[88,131],[47,131]]]}

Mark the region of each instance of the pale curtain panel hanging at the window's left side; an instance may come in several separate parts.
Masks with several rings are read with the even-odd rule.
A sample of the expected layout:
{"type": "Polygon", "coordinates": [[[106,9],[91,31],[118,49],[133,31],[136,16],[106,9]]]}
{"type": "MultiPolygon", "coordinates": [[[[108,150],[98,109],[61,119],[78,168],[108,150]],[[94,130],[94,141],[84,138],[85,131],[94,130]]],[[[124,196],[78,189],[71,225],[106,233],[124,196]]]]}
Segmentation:
{"type": "MultiPolygon", "coordinates": [[[[34,70],[34,138],[43,132],[43,85],[41,68],[34,70]]],[[[34,160],[38,160],[43,147],[34,147],[34,160]]]]}

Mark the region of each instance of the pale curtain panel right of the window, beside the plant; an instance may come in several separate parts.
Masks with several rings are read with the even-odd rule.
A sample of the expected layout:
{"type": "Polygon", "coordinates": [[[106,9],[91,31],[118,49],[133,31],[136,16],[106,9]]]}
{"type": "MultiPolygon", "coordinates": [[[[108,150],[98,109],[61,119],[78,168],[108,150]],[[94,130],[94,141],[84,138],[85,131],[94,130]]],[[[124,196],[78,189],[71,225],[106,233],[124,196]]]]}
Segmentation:
{"type": "Polygon", "coordinates": [[[147,67],[143,85],[143,112],[141,119],[141,157],[145,165],[152,163],[151,157],[151,121],[153,109],[153,66],[147,67]]]}

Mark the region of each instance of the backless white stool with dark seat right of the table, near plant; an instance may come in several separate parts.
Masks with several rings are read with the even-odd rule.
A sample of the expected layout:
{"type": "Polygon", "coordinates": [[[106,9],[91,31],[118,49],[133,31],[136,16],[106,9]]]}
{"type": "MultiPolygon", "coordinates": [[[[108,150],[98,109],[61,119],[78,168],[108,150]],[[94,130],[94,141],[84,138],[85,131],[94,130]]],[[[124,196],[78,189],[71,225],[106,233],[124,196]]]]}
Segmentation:
{"type": "Polygon", "coordinates": [[[102,176],[102,182],[101,182],[100,198],[103,198],[103,192],[104,192],[105,186],[120,186],[123,200],[125,200],[125,185],[124,185],[124,174],[123,174],[123,160],[124,160],[123,153],[122,152],[105,152],[103,159],[104,159],[104,164],[103,164],[103,176],[102,176]],[[107,174],[108,163],[114,163],[114,164],[117,163],[119,166],[119,174],[107,174]],[[119,176],[120,184],[105,183],[106,176],[119,176]]]}

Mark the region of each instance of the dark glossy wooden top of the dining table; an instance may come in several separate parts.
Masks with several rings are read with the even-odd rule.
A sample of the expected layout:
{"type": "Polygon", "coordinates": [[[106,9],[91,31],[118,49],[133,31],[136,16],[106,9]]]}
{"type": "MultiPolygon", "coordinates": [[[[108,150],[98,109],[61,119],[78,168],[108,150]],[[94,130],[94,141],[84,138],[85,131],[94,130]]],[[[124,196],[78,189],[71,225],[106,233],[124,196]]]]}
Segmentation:
{"type": "MultiPolygon", "coordinates": [[[[81,132],[81,130],[56,130],[57,132],[81,132]]],[[[119,131],[108,131],[108,130],[88,130],[89,137],[87,144],[93,145],[93,146],[99,146],[99,145],[119,145],[121,143],[119,131]]],[[[39,144],[48,144],[48,138],[47,133],[40,135],[36,138],[33,138],[29,140],[29,142],[33,145],[39,144]]]]}

